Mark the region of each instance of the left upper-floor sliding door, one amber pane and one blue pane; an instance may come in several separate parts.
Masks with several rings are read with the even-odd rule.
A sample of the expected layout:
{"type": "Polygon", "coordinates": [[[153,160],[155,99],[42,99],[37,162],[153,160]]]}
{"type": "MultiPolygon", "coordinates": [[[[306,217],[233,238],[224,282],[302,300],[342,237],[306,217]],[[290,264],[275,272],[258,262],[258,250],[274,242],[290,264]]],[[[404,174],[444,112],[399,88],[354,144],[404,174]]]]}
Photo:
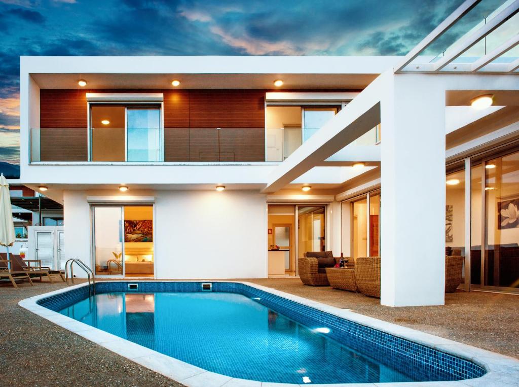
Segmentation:
{"type": "Polygon", "coordinates": [[[160,105],[90,105],[91,160],[158,162],[160,105]]]}

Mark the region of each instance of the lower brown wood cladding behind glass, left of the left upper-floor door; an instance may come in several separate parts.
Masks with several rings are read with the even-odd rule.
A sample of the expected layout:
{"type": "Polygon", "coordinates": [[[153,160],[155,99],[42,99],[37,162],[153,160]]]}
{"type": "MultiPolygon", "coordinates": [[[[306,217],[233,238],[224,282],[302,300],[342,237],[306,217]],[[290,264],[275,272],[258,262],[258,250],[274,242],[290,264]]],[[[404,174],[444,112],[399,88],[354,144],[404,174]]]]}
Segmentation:
{"type": "Polygon", "coordinates": [[[40,161],[87,161],[87,133],[83,128],[40,129],[40,161]]]}

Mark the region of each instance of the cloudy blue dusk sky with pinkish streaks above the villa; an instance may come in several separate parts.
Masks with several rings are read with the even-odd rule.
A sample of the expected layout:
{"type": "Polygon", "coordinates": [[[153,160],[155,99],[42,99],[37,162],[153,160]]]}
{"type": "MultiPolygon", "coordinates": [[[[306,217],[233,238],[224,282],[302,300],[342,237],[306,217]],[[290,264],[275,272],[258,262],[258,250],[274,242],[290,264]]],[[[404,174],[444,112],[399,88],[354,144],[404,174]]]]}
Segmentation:
{"type": "Polygon", "coordinates": [[[461,3],[0,0],[0,161],[19,163],[21,55],[405,55],[461,3]]]}

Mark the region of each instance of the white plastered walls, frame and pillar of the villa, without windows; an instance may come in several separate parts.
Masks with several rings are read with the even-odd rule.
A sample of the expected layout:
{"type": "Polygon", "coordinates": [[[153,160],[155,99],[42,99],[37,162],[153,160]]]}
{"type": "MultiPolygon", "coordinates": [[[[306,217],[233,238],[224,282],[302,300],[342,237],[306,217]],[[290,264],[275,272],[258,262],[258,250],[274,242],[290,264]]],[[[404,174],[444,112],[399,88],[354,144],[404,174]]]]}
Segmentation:
{"type": "MultiPolygon", "coordinates": [[[[49,188],[46,194],[64,204],[66,255],[92,269],[91,206],[153,204],[154,276],[179,279],[266,277],[267,203],[324,205],[326,250],[347,256],[352,248],[352,214],[342,202],[381,189],[381,303],[441,305],[445,165],[449,149],[454,149],[449,148],[452,140],[446,134],[458,135],[462,143],[484,138],[487,147],[502,136],[517,136],[517,127],[505,134],[497,128],[467,135],[463,130],[485,115],[466,109],[453,115],[446,109],[468,106],[470,97],[482,94],[481,90],[502,96],[503,105],[516,105],[503,90],[517,91],[519,81],[515,74],[395,73],[392,66],[398,60],[22,57],[21,179],[17,182],[34,189],[44,184],[49,188]],[[282,163],[31,163],[30,128],[40,125],[40,90],[78,89],[79,78],[88,78],[89,87],[99,92],[103,88],[167,88],[174,78],[182,78],[182,84],[189,85],[186,88],[272,89],[272,80],[279,78],[288,89],[315,89],[313,98],[320,98],[321,103],[322,99],[326,102],[319,97],[322,88],[363,91],[343,101],[343,109],[282,163]],[[458,91],[466,95],[457,97],[458,91]],[[463,114],[465,119],[460,118],[463,114]],[[353,146],[353,141],[378,124],[379,143],[353,146]],[[355,162],[365,166],[354,169],[355,162]],[[121,184],[129,191],[119,192],[121,184]],[[216,185],[225,185],[226,190],[217,192],[216,185]],[[311,185],[312,190],[302,192],[303,185],[311,185]]],[[[285,103],[311,102],[308,93],[286,94],[282,96],[285,103]]],[[[491,114],[498,111],[493,109],[491,114]]]]}

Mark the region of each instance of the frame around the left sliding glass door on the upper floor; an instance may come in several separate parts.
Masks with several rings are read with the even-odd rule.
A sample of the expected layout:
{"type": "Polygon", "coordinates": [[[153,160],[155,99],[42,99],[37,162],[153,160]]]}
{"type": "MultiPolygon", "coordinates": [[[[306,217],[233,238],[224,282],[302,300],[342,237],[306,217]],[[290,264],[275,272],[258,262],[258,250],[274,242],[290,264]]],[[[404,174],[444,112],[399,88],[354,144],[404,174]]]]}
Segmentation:
{"type": "Polygon", "coordinates": [[[128,108],[138,109],[139,107],[144,108],[145,105],[154,105],[159,113],[159,159],[157,161],[147,162],[130,162],[130,163],[162,163],[164,162],[164,101],[87,101],[87,161],[92,163],[92,127],[91,127],[91,115],[92,105],[124,105],[125,106],[125,160],[120,162],[94,162],[102,164],[113,164],[113,163],[128,163],[128,108]],[[135,105],[135,106],[132,106],[135,105]],[[160,106],[159,106],[160,105],[160,106]]]}

